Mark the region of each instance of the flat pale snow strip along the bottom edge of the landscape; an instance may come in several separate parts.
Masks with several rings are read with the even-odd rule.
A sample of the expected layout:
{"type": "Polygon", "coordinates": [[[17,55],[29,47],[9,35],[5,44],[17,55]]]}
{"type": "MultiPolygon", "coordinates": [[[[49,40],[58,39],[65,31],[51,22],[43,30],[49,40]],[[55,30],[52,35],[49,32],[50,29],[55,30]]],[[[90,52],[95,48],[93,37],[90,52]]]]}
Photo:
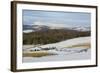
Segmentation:
{"type": "Polygon", "coordinates": [[[59,54],[44,57],[24,57],[23,62],[44,62],[44,61],[65,61],[65,60],[85,60],[91,58],[91,50],[81,53],[59,54]]]}

